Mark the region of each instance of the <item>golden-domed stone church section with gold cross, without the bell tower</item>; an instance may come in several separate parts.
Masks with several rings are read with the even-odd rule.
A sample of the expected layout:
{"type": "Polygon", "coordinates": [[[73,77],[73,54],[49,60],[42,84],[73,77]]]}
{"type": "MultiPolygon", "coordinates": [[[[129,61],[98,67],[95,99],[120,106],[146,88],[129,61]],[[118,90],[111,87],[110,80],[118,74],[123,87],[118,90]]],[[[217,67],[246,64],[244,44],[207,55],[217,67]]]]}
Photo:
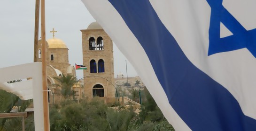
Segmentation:
{"type": "MultiPolygon", "coordinates": [[[[56,86],[52,86],[56,83],[54,77],[64,75],[76,76],[76,70],[74,66],[70,66],[69,63],[69,49],[66,44],[54,37],[54,33],[57,31],[51,31],[53,38],[48,39],[46,42],[46,62],[47,62],[47,86],[51,92],[49,92],[50,103],[56,103],[60,101],[61,95],[56,95],[56,86]]],[[[38,54],[36,55],[36,61],[41,60],[41,40],[38,42],[37,47],[38,54]]]]}

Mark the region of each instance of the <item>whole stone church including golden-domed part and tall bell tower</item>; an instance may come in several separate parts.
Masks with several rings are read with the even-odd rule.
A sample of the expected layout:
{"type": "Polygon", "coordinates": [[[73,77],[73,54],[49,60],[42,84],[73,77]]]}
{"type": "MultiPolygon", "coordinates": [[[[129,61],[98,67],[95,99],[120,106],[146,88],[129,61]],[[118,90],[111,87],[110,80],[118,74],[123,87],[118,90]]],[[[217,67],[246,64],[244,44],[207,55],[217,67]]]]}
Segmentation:
{"type": "MultiPolygon", "coordinates": [[[[74,85],[76,97],[86,97],[89,100],[93,97],[100,97],[106,103],[112,103],[116,99],[116,88],[114,87],[114,58],[113,42],[109,35],[97,22],[91,23],[82,32],[83,65],[87,67],[84,71],[84,88],[74,85]]],[[[51,31],[53,38],[47,40],[46,62],[47,62],[47,85],[51,92],[50,103],[58,103],[61,95],[57,91],[54,77],[64,75],[76,76],[74,66],[69,63],[69,49],[60,39],[54,37],[56,31],[51,31]]],[[[38,42],[38,54],[36,61],[41,62],[41,40],[38,42]]],[[[59,89],[60,90],[60,89],[59,89]]],[[[78,98],[79,99],[79,98],[78,98]]]]}

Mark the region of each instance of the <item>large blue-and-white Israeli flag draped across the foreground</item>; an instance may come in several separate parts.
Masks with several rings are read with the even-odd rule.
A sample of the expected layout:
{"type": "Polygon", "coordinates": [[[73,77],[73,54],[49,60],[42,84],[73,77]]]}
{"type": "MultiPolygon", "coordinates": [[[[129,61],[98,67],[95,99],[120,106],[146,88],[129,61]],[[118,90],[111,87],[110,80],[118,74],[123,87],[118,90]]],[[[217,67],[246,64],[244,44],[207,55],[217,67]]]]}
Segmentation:
{"type": "Polygon", "coordinates": [[[176,131],[256,131],[256,0],[82,0],[176,131]]]}

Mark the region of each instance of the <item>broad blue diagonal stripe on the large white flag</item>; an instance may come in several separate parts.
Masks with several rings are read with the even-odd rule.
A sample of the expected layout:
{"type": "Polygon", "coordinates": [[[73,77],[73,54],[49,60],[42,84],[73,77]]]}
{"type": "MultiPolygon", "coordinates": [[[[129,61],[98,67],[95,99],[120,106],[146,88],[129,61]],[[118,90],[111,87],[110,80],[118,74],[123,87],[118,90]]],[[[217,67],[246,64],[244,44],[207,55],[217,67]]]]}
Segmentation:
{"type": "Polygon", "coordinates": [[[169,103],[193,131],[256,131],[256,120],[243,114],[232,94],[187,59],[148,0],[109,2],[144,48],[169,103]]]}

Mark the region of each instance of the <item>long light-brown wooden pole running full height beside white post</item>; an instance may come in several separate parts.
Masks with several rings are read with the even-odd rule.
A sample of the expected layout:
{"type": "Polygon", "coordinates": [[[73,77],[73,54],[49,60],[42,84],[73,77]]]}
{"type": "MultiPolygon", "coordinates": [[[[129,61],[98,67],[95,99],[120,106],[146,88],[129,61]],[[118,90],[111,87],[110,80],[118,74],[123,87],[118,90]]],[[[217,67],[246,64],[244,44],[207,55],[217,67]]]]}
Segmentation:
{"type": "Polygon", "coordinates": [[[42,37],[42,73],[43,73],[43,106],[44,106],[44,128],[50,131],[49,105],[47,91],[47,72],[46,72],[46,28],[45,28],[45,0],[41,0],[41,37],[42,37]]]}

